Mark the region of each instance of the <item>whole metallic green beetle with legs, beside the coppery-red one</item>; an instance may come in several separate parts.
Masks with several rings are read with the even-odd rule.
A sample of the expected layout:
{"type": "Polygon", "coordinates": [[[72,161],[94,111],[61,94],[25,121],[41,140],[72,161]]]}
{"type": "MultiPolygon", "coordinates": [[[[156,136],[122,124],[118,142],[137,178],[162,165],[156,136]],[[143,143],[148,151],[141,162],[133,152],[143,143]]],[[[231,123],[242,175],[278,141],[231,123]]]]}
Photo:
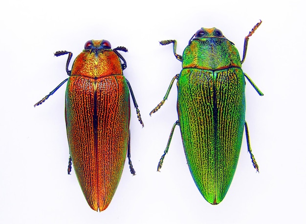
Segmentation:
{"type": "Polygon", "coordinates": [[[254,168],[258,165],[252,154],[247,124],[245,122],[245,80],[263,95],[242,71],[248,39],[260,26],[257,23],[244,39],[242,60],[235,45],[217,28],[201,28],[192,36],[183,56],[176,54],[183,69],[175,75],[164,99],[153,109],[156,112],[168,98],[177,80],[178,120],[173,125],[168,144],[160,158],[157,171],[168,153],[176,125],[179,125],[184,151],[191,175],[197,188],[211,204],[221,202],[235,174],[245,128],[248,152],[254,168]]]}

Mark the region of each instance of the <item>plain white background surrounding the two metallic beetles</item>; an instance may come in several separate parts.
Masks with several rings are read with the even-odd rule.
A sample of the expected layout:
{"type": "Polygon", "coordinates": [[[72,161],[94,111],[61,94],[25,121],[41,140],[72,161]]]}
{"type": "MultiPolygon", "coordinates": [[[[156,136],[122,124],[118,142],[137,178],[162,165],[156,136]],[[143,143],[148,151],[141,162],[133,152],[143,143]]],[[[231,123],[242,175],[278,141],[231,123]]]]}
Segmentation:
{"type": "MultiPolygon", "coordinates": [[[[302,0],[76,1],[0,3],[0,223],[1,224],[266,224],[305,223],[305,6],[302,0]],[[252,167],[243,137],[231,187],[219,205],[206,202],[190,175],[179,128],[161,172],[156,167],[177,120],[176,87],[152,117],[200,27],[218,27],[236,44],[250,38],[242,66],[264,96],[246,84],[246,121],[260,167],[252,167]],[[126,46],[124,74],[145,124],[131,111],[131,158],[107,210],[89,208],[74,171],[66,174],[68,144],[64,85],[66,56],[87,40],[126,46]]],[[[72,63],[71,63],[72,65],[72,63]]],[[[70,65],[70,67],[71,67],[70,65]]],[[[131,107],[133,108],[133,106],[131,107]]]]}

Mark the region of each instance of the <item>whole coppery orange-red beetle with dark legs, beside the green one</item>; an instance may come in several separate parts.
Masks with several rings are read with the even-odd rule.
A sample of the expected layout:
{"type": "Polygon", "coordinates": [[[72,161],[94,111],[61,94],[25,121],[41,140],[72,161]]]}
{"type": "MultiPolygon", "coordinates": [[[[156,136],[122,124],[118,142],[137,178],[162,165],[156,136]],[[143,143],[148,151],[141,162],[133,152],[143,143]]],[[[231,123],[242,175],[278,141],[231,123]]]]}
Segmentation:
{"type": "Polygon", "coordinates": [[[123,46],[111,49],[107,40],[87,41],[71,70],[68,66],[72,53],[57,51],[55,56],[68,54],[69,77],[34,105],[42,104],[68,81],[65,104],[68,174],[73,163],[84,196],[96,211],[105,210],[113,198],[126,156],[131,174],[135,175],[130,151],[130,93],[138,120],[144,126],[131,85],[123,76],[126,61],[118,50],[128,51],[123,46]]]}

